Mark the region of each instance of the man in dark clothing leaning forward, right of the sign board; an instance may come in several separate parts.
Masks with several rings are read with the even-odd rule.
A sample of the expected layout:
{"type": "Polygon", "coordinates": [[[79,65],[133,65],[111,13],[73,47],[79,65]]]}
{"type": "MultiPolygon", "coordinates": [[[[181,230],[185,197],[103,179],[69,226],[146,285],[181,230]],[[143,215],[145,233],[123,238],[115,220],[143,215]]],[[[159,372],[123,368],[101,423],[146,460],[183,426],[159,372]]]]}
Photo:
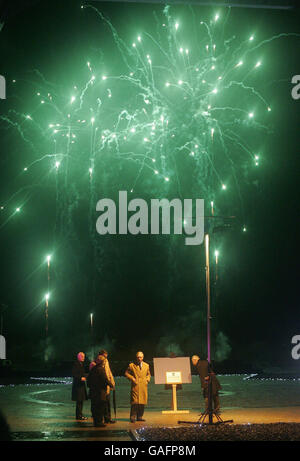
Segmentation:
{"type": "Polygon", "coordinates": [[[210,378],[212,382],[213,411],[216,415],[219,415],[220,414],[219,390],[222,389],[222,386],[218,378],[216,377],[211,367],[210,367],[210,372],[209,372],[207,360],[200,360],[200,357],[198,355],[193,355],[192,363],[194,367],[196,367],[197,372],[199,374],[200,381],[201,381],[201,388],[203,391],[203,397],[205,401],[205,411],[208,410],[208,404],[209,404],[208,391],[209,391],[209,378],[210,378]]]}

